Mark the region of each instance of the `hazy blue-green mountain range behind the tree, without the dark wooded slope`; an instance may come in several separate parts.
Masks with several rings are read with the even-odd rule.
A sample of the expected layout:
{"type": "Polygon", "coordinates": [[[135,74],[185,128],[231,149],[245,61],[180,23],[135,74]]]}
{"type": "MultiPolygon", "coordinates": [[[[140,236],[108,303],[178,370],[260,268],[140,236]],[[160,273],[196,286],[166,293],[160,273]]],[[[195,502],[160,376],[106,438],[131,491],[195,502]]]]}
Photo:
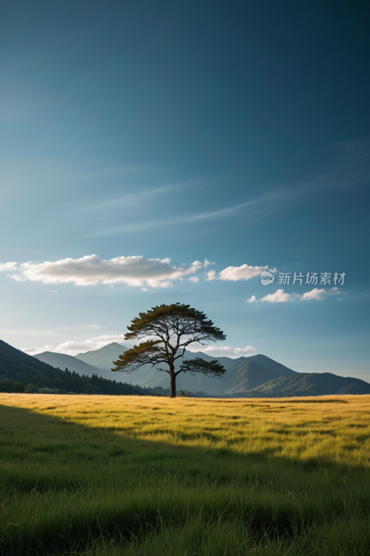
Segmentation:
{"type": "MultiPolygon", "coordinates": [[[[117,382],[132,382],[141,388],[168,389],[169,375],[157,368],[144,366],[135,373],[112,373],[119,355],[130,349],[117,342],[110,343],[100,350],[71,355],[43,352],[36,359],[59,368],[68,367],[88,377],[99,375],[117,382]]],[[[186,351],[184,359],[201,357],[206,361],[217,359],[226,369],[221,379],[180,373],[176,379],[176,389],[190,393],[203,391],[217,397],[253,398],[278,397],[287,395],[330,395],[330,394],[370,394],[370,384],[353,377],[339,377],[332,373],[296,373],[270,359],[258,354],[251,357],[211,357],[203,352],[186,351]]],[[[181,358],[176,361],[180,368],[181,358]]]]}

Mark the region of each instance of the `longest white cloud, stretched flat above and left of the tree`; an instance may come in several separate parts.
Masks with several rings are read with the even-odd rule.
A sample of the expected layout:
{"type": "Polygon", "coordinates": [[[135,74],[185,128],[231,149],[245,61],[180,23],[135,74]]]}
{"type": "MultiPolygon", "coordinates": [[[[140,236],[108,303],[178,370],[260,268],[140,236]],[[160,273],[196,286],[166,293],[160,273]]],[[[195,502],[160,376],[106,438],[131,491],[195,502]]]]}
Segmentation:
{"type": "MultiPolygon", "coordinates": [[[[8,264],[8,263],[6,263],[8,264]]],[[[204,268],[208,261],[194,261],[188,268],[176,268],[171,259],[144,259],[143,256],[119,256],[105,261],[97,255],[81,259],[62,259],[44,263],[22,263],[17,281],[41,281],[44,284],[94,286],[95,284],[127,284],[128,286],[151,286],[171,288],[172,280],[194,274],[204,268]]]]}

